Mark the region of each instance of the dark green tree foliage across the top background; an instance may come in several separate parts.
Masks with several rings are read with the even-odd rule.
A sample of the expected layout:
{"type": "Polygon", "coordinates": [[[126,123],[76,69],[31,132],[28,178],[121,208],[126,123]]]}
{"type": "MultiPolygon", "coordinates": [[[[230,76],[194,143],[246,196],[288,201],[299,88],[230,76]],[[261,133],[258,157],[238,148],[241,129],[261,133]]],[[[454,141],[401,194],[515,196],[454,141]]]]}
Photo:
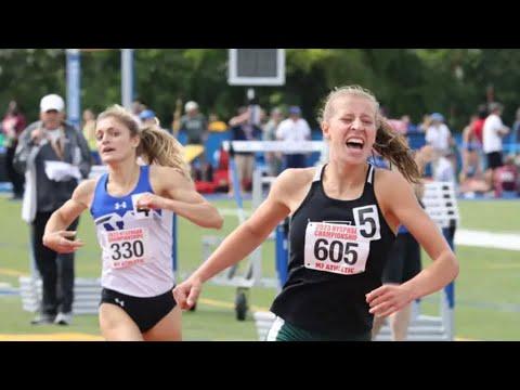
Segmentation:
{"type": "MultiPolygon", "coordinates": [[[[197,101],[205,114],[226,120],[246,103],[245,87],[227,86],[226,49],[138,49],[135,92],[169,127],[178,99],[197,101]]],[[[359,83],[378,96],[391,117],[441,112],[460,131],[481,103],[505,104],[511,123],[520,105],[520,51],[509,49],[289,49],[286,84],[256,87],[260,105],[298,104],[313,127],[326,94],[359,83]]],[[[120,52],[81,52],[81,105],[95,112],[121,101],[120,52]]],[[[65,51],[0,50],[0,106],[15,99],[28,120],[47,93],[65,96],[65,51]]]]}

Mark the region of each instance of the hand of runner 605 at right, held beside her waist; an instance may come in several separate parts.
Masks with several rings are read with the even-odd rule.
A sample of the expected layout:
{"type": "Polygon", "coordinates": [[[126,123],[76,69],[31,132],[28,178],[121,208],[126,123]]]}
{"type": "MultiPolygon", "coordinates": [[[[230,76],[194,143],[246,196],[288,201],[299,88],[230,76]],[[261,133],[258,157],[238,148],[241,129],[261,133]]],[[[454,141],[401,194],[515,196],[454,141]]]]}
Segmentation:
{"type": "Polygon", "coordinates": [[[403,285],[382,285],[366,295],[369,312],[376,316],[388,316],[412,302],[412,291],[403,285]]]}

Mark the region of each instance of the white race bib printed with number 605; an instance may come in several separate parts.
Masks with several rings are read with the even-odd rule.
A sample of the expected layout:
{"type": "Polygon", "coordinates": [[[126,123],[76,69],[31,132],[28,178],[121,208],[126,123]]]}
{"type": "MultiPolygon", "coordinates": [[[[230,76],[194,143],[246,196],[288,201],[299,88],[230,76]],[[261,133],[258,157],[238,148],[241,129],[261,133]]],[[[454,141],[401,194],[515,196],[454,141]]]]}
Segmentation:
{"type": "Polygon", "coordinates": [[[359,226],[309,222],[306,230],[304,265],[310,270],[341,275],[365,272],[370,240],[359,226]]]}

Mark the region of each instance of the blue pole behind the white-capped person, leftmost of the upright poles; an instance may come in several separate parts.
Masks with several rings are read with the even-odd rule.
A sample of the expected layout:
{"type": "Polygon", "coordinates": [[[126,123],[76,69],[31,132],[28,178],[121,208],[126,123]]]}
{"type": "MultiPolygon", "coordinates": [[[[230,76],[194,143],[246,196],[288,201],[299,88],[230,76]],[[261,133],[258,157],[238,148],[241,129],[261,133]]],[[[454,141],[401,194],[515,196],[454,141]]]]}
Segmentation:
{"type": "Polygon", "coordinates": [[[81,121],[80,100],[80,53],[79,49],[67,49],[67,120],[79,129],[81,121]]]}

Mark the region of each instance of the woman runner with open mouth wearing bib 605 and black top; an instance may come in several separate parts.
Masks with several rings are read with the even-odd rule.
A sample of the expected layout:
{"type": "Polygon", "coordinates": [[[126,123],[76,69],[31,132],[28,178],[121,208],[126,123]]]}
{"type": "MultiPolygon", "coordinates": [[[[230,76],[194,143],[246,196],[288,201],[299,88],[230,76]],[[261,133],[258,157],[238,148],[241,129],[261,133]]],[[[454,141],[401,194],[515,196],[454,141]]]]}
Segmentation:
{"type": "Polygon", "coordinates": [[[337,89],[320,122],[329,162],[282,172],[255,213],[174,288],[181,308],[191,308],[204,282],[247,257],[287,216],[288,278],[271,306],[276,320],[268,340],[369,341],[375,315],[388,316],[456,277],[455,255],[412,188],[417,165],[375,96],[359,86],[337,89]],[[374,150],[399,171],[368,164],[374,150]],[[434,261],[402,285],[381,286],[400,224],[434,261]]]}

